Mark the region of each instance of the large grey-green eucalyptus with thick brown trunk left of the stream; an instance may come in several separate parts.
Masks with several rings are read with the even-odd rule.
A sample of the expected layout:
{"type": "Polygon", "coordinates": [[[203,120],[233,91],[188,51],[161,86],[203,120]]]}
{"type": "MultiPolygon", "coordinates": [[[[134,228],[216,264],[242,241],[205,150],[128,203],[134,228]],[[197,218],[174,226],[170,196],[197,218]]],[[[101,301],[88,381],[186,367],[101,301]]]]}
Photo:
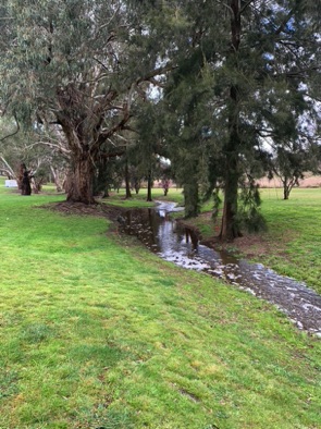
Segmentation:
{"type": "MultiPolygon", "coordinates": [[[[96,162],[126,145],[137,94],[160,73],[141,15],[121,0],[4,0],[1,101],[29,126],[63,133],[67,199],[90,204],[96,162]]],[[[0,36],[1,38],[2,36],[0,36]]]]}

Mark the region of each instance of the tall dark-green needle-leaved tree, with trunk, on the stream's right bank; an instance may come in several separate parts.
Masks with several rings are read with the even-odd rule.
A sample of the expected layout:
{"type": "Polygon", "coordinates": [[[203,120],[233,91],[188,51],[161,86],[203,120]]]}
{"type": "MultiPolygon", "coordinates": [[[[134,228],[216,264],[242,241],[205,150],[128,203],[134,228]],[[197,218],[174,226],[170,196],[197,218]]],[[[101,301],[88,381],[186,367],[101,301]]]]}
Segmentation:
{"type": "MultiPolygon", "coordinates": [[[[223,167],[210,176],[219,179],[224,191],[220,236],[233,240],[242,234],[240,214],[247,217],[238,208],[240,186],[247,187],[247,201],[251,195],[251,218],[259,219],[259,212],[255,213],[257,189],[249,185],[252,177],[247,175],[251,166],[267,159],[263,140],[271,138],[282,145],[296,139],[299,119],[314,110],[313,98],[320,95],[320,12],[309,1],[209,0],[202,8],[177,1],[175,7],[182,25],[176,38],[177,77],[170,82],[169,106],[173,106],[174,88],[182,87],[184,81],[182,97],[197,97],[195,112],[201,105],[196,82],[201,81],[203,70],[211,72],[207,87],[211,101],[208,99],[203,109],[213,132],[208,166],[223,167]],[[188,87],[192,76],[195,81],[188,87]],[[211,162],[212,157],[219,162],[211,162]]],[[[181,118],[186,113],[184,102],[173,110],[181,118]]],[[[184,118],[181,127],[198,123],[199,119],[184,118]]],[[[197,137],[192,140],[197,145],[197,137]]],[[[182,139],[181,146],[181,151],[188,151],[186,140],[182,139]]],[[[199,155],[195,151],[195,157],[199,155]]]]}

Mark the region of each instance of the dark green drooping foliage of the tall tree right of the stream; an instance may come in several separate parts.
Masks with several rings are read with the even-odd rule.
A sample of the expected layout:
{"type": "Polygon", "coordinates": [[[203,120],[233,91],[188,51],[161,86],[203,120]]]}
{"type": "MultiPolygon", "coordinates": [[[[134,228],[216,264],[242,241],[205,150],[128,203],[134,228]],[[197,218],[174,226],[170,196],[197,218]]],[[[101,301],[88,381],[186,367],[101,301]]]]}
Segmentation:
{"type": "MultiPolygon", "coordinates": [[[[311,130],[317,130],[319,119],[312,99],[318,96],[311,88],[316,89],[314,82],[320,79],[321,54],[316,37],[320,22],[311,4],[231,4],[229,9],[222,2],[206,2],[205,9],[197,10],[189,1],[180,3],[186,22],[181,32],[185,32],[189,45],[177,38],[184,54],[175,54],[177,68],[164,93],[172,120],[177,121],[175,137],[169,137],[169,142],[178,182],[184,184],[194,171],[205,194],[220,183],[227,205],[237,198],[237,186],[230,186],[234,183],[231,177],[242,186],[245,174],[257,176],[268,168],[263,140],[285,145],[307,135],[303,127],[307,122],[310,136],[311,130]],[[205,149],[198,150],[203,126],[212,135],[205,149]],[[194,166],[189,158],[195,160],[194,166]],[[197,160],[201,158],[206,161],[200,162],[199,172],[197,160]],[[188,167],[184,170],[185,164],[188,167]]],[[[239,206],[242,213],[233,204],[226,210],[232,216],[225,223],[235,225],[244,218],[244,207],[250,206],[247,223],[258,222],[260,228],[255,201],[239,206]]]]}

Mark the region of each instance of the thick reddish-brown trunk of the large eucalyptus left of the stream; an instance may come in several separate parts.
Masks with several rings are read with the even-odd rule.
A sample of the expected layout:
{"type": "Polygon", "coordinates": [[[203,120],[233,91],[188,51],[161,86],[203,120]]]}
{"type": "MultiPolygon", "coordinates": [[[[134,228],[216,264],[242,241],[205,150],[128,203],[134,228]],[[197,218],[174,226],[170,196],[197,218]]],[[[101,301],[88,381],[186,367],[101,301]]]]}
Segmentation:
{"type": "Polygon", "coordinates": [[[69,176],[66,200],[71,203],[95,204],[92,196],[94,166],[89,154],[74,160],[74,169],[69,176]]]}

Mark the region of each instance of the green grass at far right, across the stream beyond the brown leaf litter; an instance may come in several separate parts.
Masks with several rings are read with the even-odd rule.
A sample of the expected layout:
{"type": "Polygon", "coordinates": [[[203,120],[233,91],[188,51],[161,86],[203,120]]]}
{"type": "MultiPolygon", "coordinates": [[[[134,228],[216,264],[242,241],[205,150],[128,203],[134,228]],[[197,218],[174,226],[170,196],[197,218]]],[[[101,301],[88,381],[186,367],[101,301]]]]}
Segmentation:
{"type": "Polygon", "coordinates": [[[288,200],[281,189],[262,189],[262,199],[264,240],[274,252],[260,255],[261,261],[321,294],[321,188],[294,188],[288,200]]]}

